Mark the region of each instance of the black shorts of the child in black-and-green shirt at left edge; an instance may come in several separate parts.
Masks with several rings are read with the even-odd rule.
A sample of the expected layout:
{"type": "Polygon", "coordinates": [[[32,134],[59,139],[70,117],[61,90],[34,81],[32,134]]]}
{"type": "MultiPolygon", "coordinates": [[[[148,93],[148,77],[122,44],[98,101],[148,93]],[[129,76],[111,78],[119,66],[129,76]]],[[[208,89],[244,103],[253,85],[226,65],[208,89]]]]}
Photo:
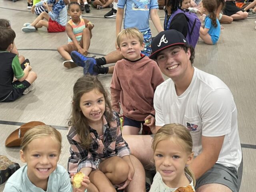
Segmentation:
{"type": "Polygon", "coordinates": [[[18,99],[29,86],[30,83],[26,80],[12,82],[12,91],[5,98],[1,98],[2,100],[0,102],[9,102],[18,99]]]}

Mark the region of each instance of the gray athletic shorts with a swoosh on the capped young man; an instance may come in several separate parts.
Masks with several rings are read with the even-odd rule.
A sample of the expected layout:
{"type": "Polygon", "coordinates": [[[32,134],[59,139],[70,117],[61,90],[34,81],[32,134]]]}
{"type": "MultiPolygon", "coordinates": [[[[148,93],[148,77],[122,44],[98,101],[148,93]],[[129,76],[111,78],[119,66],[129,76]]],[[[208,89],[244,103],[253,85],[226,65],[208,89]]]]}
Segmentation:
{"type": "Polygon", "coordinates": [[[216,163],[210,170],[196,180],[195,189],[205,184],[218,183],[227,186],[232,192],[238,192],[238,176],[236,168],[216,163]]]}

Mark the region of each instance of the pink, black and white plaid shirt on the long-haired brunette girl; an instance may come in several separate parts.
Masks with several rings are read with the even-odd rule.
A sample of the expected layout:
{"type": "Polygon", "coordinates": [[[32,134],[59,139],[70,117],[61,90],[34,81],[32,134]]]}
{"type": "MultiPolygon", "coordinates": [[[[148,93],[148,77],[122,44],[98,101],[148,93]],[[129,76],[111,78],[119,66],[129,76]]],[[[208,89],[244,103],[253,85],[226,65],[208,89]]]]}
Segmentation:
{"type": "Polygon", "coordinates": [[[70,126],[67,134],[70,143],[70,158],[68,159],[68,172],[76,173],[81,168],[90,167],[96,170],[95,162],[102,161],[112,156],[121,158],[130,155],[130,148],[123,140],[120,130],[120,118],[118,113],[113,112],[111,122],[103,118],[103,135],[99,136],[97,131],[89,127],[92,142],[89,151],[81,146],[80,136],[74,126],[70,126]],[[102,140],[104,142],[102,142],[102,140]]]}

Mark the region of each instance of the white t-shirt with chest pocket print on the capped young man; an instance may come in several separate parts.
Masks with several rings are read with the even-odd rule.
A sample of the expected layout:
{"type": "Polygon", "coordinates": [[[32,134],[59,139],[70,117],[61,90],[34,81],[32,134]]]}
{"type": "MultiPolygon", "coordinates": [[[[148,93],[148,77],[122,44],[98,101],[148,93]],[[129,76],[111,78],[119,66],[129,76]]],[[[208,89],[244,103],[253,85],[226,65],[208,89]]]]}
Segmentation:
{"type": "Polygon", "coordinates": [[[195,156],[202,152],[202,136],[225,135],[216,163],[238,169],[242,150],[236,104],[229,88],[218,77],[194,67],[192,81],[180,96],[174,82],[168,79],[156,88],[154,108],[156,126],[179,123],[190,130],[195,156]]]}

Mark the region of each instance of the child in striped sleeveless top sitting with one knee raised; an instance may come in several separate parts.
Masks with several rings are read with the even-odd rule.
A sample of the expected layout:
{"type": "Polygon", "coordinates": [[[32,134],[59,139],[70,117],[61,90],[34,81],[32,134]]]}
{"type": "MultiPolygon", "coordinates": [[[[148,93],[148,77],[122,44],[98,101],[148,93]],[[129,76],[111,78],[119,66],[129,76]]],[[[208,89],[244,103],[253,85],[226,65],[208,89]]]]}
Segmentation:
{"type": "Polygon", "coordinates": [[[81,6],[78,2],[71,2],[68,5],[68,13],[71,19],[66,25],[68,34],[68,44],[58,47],[58,52],[66,60],[63,65],[66,68],[73,68],[77,65],[70,56],[70,52],[78,51],[80,54],[87,55],[92,38],[92,28],[94,25],[87,19],[80,17],[82,14],[81,6]]]}

